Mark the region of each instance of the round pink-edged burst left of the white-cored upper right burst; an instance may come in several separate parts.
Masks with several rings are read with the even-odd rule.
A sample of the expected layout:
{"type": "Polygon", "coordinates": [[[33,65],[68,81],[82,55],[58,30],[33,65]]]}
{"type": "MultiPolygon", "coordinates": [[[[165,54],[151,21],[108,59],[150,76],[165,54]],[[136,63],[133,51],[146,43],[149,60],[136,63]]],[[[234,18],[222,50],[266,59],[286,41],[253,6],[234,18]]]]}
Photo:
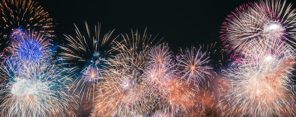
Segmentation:
{"type": "Polygon", "coordinates": [[[254,6],[253,3],[241,5],[222,23],[221,40],[229,53],[234,51],[233,56],[241,55],[250,45],[260,42],[260,28],[271,20],[264,13],[265,10],[258,10],[254,6]]]}

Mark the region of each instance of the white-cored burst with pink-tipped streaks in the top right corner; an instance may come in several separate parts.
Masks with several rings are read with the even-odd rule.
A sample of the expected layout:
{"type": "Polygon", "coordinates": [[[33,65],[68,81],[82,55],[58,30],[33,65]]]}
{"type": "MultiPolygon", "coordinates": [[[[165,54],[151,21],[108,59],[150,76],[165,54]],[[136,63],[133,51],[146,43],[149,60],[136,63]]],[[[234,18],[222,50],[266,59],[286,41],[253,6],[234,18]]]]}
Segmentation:
{"type": "Polygon", "coordinates": [[[292,3],[286,0],[260,0],[257,7],[268,9],[269,17],[274,18],[264,25],[264,35],[296,44],[296,9],[293,9],[292,3]]]}

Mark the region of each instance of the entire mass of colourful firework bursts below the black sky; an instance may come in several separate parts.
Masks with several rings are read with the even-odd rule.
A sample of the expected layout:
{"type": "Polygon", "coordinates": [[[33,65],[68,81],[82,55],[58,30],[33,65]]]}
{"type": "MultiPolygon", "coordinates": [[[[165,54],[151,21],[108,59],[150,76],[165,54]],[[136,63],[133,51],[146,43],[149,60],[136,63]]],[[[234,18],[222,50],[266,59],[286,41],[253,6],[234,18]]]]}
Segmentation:
{"type": "Polygon", "coordinates": [[[55,45],[37,2],[2,0],[0,116],[296,116],[292,4],[247,3],[222,25],[223,47],[176,52],[146,29],[102,35],[86,22],[55,45]]]}

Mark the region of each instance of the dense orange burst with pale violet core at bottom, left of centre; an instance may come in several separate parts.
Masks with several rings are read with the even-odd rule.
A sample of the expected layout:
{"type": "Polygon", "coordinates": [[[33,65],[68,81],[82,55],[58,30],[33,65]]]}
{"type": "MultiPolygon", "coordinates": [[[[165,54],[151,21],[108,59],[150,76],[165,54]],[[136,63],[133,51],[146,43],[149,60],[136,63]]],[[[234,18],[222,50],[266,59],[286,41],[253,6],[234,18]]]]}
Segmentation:
{"type": "Polygon", "coordinates": [[[130,117],[141,115],[145,89],[132,69],[114,69],[99,85],[92,117],[130,117]]]}

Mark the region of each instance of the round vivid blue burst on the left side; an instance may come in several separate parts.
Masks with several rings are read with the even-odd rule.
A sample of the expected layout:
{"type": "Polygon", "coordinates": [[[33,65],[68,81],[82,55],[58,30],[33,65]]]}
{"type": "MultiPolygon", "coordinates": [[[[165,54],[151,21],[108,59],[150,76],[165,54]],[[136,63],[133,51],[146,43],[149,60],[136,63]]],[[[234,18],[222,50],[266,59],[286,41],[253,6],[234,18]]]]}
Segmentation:
{"type": "Polygon", "coordinates": [[[50,57],[50,43],[42,33],[26,31],[21,36],[11,39],[8,57],[19,64],[38,64],[42,59],[50,57]]]}

